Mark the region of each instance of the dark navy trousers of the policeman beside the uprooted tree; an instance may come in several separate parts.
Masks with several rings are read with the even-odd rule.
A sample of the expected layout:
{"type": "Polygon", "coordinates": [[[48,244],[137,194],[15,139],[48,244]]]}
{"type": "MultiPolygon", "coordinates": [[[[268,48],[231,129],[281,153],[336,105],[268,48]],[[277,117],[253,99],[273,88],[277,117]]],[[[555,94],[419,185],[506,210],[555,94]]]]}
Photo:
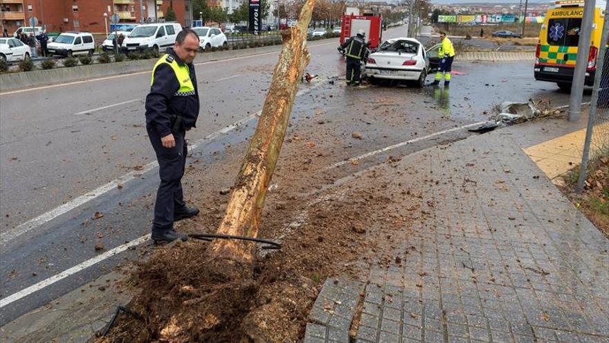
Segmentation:
{"type": "Polygon", "coordinates": [[[162,232],[173,228],[174,211],[185,207],[181,180],[186,166],[188,144],[184,130],[173,132],[176,146],[170,149],[163,147],[161,135],[154,128],[147,126],[147,131],[156,152],[158,175],[161,177],[154,204],[152,231],[162,232]]]}

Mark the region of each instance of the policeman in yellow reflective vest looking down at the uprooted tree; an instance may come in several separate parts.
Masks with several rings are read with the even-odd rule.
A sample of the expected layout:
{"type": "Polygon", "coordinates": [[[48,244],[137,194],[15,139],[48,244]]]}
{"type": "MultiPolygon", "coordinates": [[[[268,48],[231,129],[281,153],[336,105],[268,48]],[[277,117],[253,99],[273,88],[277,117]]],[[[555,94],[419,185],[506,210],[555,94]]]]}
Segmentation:
{"type": "Polygon", "coordinates": [[[199,209],[184,202],[187,144],[185,132],[195,127],[199,116],[197,76],[192,61],[199,51],[199,36],[183,29],[173,49],[167,49],[152,69],[150,93],[146,96],[146,130],[156,159],[161,184],[156,193],[152,239],[155,243],[186,240],[173,229],[177,220],[196,216],[199,209]]]}

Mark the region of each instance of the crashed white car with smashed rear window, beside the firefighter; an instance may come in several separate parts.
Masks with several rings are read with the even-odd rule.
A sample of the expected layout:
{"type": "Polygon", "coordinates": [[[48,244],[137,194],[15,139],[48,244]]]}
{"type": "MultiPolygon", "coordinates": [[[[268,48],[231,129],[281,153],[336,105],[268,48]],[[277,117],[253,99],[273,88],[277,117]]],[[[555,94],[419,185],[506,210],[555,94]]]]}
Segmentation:
{"type": "Polygon", "coordinates": [[[366,64],[366,75],[370,83],[379,79],[405,80],[416,87],[425,85],[429,71],[426,51],[417,39],[399,37],[389,39],[370,54],[366,64]]]}

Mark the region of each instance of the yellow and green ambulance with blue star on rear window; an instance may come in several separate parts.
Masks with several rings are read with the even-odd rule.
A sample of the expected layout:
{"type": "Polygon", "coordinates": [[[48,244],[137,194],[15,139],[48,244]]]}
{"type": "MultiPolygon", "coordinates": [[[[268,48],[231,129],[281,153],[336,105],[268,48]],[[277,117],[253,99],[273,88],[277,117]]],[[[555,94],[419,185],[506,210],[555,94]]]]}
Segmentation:
{"type": "MultiPolygon", "coordinates": [[[[585,85],[592,86],[605,17],[605,1],[597,1],[590,37],[585,85]]],[[[558,0],[547,10],[539,33],[535,53],[535,80],[556,82],[563,91],[570,91],[573,82],[579,31],[583,17],[583,0],[558,0]]]]}

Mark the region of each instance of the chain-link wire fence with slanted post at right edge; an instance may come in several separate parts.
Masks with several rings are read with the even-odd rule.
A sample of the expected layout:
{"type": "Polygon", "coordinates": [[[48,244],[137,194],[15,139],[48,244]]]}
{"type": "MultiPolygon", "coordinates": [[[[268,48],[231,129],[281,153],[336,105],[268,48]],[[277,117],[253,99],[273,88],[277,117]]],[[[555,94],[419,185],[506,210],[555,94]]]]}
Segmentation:
{"type": "MultiPolygon", "coordinates": [[[[609,10],[609,3],[606,6],[606,10],[609,10]]],[[[606,16],[601,42],[607,42],[608,33],[609,16],[606,16]]],[[[609,159],[609,49],[607,49],[606,44],[601,44],[599,50],[597,75],[594,79],[594,87],[592,88],[588,127],[586,128],[579,170],[578,193],[581,193],[585,186],[596,186],[590,184],[595,176],[592,173],[597,173],[597,166],[603,160],[607,164],[609,159]]],[[[606,196],[609,197],[609,194],[606,196]]]]}

